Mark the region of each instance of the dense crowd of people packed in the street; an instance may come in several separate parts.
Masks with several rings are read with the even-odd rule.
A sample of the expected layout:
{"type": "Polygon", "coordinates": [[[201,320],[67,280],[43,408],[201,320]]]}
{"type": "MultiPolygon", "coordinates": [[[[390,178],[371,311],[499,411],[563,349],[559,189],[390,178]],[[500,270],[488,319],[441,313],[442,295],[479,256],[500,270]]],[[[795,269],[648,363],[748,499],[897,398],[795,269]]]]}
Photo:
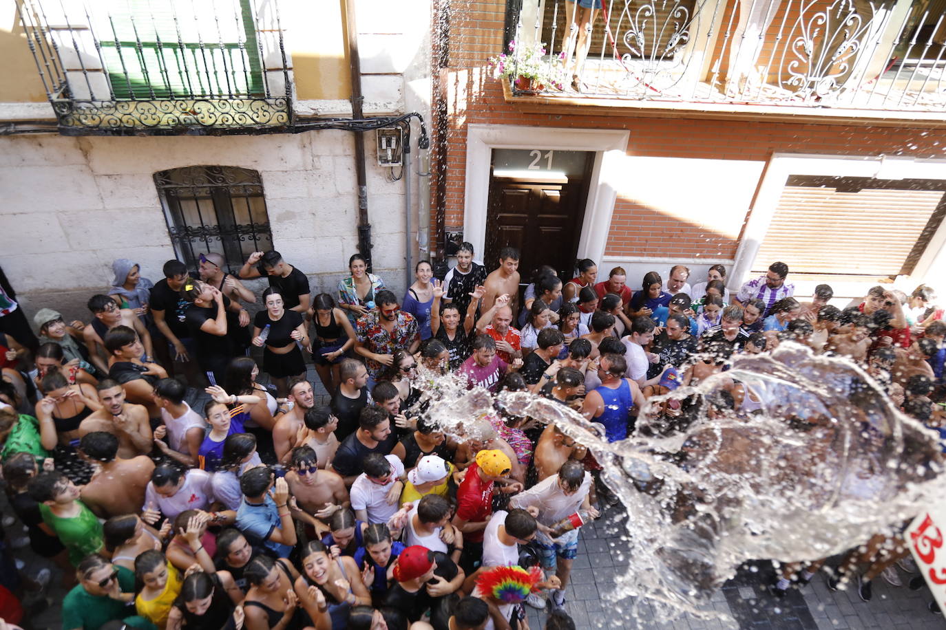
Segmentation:
{"type": "MultiPolygon", "coordinates": [[[[648,399],[791,341],[849,357],[904,413],[942,421],[946,321],[928,287],[879,285],[839,309],[826,284],[797,301],[783,263],[730,293],[721,265],[692,285],[683,265],[650,272],[632,291],[622,267],[599,281],[590,260],[520,282],[518,258],[505,247],[487,272],[464,243],[442,281],[417,264],[400,300],[359,255],[314,296],[275,251],[236,275],[216,253],[196,273],[168,261],[153,283],[122,259],[88,321],[44,308],[35,331],[0,272],[4,483],[32,551],[74,585],[63,630],[525,628],[523,604],[573,627],[581,527],[617,501],[594,451],[499,407],[447,433],[425,413],[430,375],[568,405],[614,442],[641,434],[648,399]],[[258,297],[254,278],[269,284],[258,297]]],[[[714,400],[760,410],[740,383],[714,400]]],[[[841,568],[868,566],[866,600],[870,577],[905,566],[880,549],[841,568]]],[[[773,592],[816,569],[783,571],[773,592]]],[[[36,582],[5,573],[0,617],[16,622],[36,582]]]]}

